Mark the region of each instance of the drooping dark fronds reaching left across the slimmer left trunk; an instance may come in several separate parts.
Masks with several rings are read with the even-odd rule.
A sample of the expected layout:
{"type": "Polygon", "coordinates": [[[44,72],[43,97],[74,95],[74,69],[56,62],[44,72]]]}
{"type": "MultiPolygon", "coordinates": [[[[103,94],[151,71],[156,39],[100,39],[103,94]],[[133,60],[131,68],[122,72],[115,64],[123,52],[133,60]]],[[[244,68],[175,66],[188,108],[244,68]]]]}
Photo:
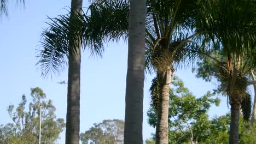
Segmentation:
{"type": "Polygon", "coordinates": [[[49,18],[48,28],[42,33],[42,50],[36,65],[42,76],[60,74],[67,65],[67,58],[76,53],[77,39],[91,55],[102,56],[104,43],[127,38],[129,3],[127,1],[94,1],[86,13],[49,18]],[[110,19],[113,18],[113,19],[110,19]]]}

